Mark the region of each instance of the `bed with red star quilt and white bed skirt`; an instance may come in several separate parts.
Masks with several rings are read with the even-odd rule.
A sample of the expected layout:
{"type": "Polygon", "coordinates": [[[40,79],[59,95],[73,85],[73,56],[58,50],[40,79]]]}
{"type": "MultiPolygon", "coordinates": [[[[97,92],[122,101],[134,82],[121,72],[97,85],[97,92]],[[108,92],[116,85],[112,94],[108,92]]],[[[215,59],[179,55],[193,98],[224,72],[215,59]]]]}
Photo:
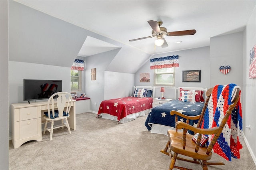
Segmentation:
{"type": "Polygon", "coordinates": [[[152,89],[135,88],[134,95],[104,100],[100,103],[97,117],[126,123],[145,116],[152,109],[152,89]]]}

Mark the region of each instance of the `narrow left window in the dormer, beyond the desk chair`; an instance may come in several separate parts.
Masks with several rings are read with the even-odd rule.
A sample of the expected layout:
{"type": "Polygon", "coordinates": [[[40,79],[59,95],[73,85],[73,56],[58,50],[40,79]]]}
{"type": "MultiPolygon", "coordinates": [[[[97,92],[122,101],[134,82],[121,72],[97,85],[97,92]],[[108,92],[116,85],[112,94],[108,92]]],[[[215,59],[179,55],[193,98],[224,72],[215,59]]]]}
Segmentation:
{"type": "Polygon", "coordinates": [[[71,91],[82,91],[82,71],[71,70],[71,91]]]}

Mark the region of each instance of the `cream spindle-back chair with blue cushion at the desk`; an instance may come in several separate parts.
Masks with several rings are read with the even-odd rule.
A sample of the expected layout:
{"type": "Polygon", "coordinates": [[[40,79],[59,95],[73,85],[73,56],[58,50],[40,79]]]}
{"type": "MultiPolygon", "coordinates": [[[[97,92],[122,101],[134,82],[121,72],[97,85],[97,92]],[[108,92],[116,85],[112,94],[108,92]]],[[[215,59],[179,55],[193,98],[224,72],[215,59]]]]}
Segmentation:
{"type": "Polygon", "coordinates": [[[45,134],[45,131],[48,130],[50,132],[50,140],[52,140],[52,133],[53,133],[53,130],[56,128],[67,127],[69,134],[71,134],[70,127],[68,125],[68,117],[70,115],[68,113],[70,111],[72,102],[73,102],[72,96],[70,95],[70,93],[67,93],[67,92],[54,93],[48,99],[48,103],[47,103],[48,111],[45,112],[45,115],[43,115],[43,118],[46,120],[44,125],[44,134],[45,134]],[[56,99],[56,104],[54,104],[54,99],[56,96],[58,97],[56,99]],[[66,107],[66,111],[64,111],[65,107],[66,107]],[[64,119],[66,123],[63,122],[64,119]],[[62,124],[60,126],[54,127],[54,122],[60,121],[60,120],[62,124]],[[51,128],[47,128],[47,123],[49,121],[52,122],[51,128]]]}

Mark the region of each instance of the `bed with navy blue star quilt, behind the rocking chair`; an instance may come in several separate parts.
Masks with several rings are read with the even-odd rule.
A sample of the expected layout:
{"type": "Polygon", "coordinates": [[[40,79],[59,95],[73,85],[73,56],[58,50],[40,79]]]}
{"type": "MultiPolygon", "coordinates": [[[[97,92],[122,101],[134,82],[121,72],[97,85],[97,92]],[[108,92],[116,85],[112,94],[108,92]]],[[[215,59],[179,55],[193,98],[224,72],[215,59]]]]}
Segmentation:
{"type": "MultiPolygon", "coordinates": [[[[169,129],[175,130],[175,115],[170,115],[170,111],[178,111],[184,115],[200,115],[204,106],[204,98],[207,89],[201,87],[176,87],[178,91],[176,100],[169,101],[151,109],[145,121],[145,126],[151,133],[165,134],[168,136],[169,129]]],[[[186,119],[178,116],[178,121],[186,122],[186,119]]],[[[197,125],[198,120],[190,120],[189,124],[197,125]]],[[[189,133],[193,133],[189,131],[189,133]]]]}

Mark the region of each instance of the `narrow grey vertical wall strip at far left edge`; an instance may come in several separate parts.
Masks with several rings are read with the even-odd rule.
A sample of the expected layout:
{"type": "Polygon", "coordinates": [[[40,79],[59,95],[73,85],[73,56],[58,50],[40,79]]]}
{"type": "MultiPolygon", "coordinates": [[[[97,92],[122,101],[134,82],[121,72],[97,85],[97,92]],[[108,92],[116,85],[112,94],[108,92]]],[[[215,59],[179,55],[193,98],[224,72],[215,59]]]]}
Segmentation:
{"type": "Polygon", "coordinates": [[[0,169],[9,167],[8,1],[0,1],[0,169]]]}

